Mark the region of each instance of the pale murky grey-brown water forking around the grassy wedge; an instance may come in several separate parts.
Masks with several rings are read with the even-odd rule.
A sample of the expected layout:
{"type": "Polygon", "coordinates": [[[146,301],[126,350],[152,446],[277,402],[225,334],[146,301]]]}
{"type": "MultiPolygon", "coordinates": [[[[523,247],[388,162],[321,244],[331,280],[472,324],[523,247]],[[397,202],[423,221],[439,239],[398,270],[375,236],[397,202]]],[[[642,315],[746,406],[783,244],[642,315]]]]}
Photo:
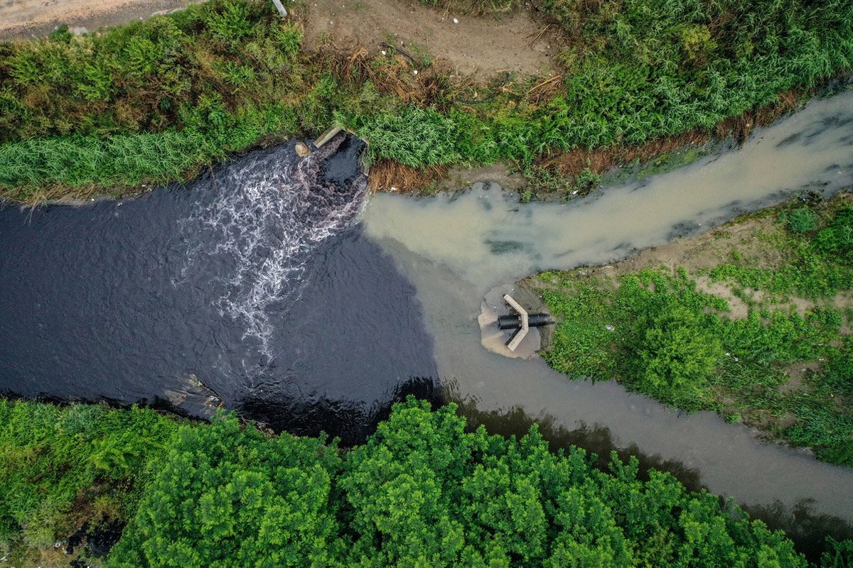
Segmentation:
{"type": "Polygon", "coordinates": [[[765,444],[711,413],[682,416],[615,382],[570,381],[541,360],[488,353],[477,324],[487,290],[548,268],[600,264],[705,230],[797,192],[853,186],[853,93],[815,100],[746,146],[669,174],[610,187],[568,204],[515,202],[500,188],[414,200],[374,196],[368,236],[415,284],[438,370],[456,399],[479,411],[547,420],[568,431],[606,428],[612,445],[635,445],[678,462],[701,485],[738,502],[853,520],[853,469],[765,444]],[[804,501],[806,500],[806,501],[804,501]]]}

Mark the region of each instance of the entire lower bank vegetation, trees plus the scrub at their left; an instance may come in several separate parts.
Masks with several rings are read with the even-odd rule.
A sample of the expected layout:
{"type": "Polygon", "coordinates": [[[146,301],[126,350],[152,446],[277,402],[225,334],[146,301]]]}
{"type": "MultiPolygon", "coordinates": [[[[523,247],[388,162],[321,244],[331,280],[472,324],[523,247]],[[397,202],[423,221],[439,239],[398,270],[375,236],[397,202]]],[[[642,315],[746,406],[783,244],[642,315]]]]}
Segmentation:
{"type": "MultiPolygon", "coordinates": [[[[453,406],[414,400],[351,450],[233,417],[179,425],[30,402],[0,403],[0,441],[4,555],[28,549],[32,565],[61,565],[54,540],[83,522],[128,518],[112,552],[87,562],[807,565],[783,533],[669,473],[645,479],[615,458],[601,471],[583,450],[550,453],[535,429],[466,433],[453,406]]],[[[829,542],[822,565],[849,565],[850,544],[829,542]]]]}

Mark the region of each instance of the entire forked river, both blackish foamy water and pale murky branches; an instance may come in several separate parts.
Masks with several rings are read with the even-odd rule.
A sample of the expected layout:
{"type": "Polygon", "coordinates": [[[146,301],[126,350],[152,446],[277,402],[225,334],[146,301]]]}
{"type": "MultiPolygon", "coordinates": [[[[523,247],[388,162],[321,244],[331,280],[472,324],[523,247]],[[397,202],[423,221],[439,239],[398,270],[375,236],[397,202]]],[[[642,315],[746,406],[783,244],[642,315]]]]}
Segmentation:
{"type": "Polygon", "coordinates": [[[779,525],[798,512],[850,533],[853,469],[489,353],[477,316],[486,291],[529,273],[617,261],[853,186],[853,93],[814,100],[740,149],[568,203],[519,204],[494,184],[368,198],[360,142],[332,146],[301,162],[292,146],[251,152],[124,202],[0,211],[0,390],[193,413],[203,383],[243,416],[349,443],[392,400],[440,390],[496,429],[545,422],[779,525]]]}

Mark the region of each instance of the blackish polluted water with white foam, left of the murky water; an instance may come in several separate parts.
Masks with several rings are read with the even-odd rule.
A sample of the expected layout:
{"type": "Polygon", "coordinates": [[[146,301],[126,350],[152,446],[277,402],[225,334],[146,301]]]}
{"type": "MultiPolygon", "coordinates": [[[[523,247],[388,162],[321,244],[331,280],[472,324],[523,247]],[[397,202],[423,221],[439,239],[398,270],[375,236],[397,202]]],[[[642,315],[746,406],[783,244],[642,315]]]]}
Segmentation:
{"type": "Polygon", "coordinates": [[[125,202],[0,211],[0,390],[194,415],[215,396],[345,444],[434,397],[414,288],[357,225],[362,149],[279,146],[125,202]]]}

